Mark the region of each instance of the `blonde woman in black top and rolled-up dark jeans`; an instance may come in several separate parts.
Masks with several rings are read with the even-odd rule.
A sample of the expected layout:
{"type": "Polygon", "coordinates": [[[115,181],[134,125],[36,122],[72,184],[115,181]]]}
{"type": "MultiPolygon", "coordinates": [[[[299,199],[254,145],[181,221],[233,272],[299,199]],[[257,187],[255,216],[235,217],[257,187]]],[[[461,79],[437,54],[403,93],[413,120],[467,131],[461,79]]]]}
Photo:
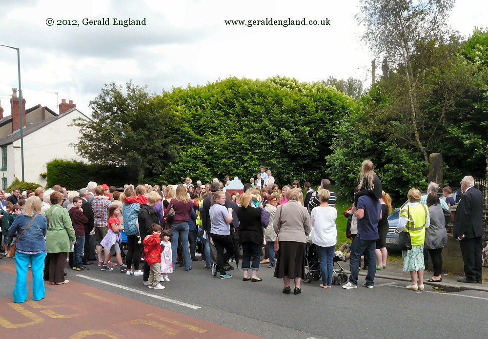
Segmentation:
{"type": "Polygon", "coordinates": [[[240,201],[241,207],[237,210],[237,218],[239,219],[239,242],[243,247],[243,280],[263,281],[263,279],[258,278],[259,260],[261,260],[261,247],[264,239],[261,210],[252,205],[250,193],[242,194],[240,201]],[[252,278],[249,278],[249,269],[252,270],[252,278]]]}

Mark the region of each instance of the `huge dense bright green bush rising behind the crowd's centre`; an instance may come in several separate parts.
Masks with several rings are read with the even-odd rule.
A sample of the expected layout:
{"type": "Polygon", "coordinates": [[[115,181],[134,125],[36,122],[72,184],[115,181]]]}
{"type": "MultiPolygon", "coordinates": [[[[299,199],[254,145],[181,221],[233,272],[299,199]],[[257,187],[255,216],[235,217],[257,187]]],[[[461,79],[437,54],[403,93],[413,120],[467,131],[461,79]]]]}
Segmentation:
{"type": "Polygon", "coordinates": [[[152,104],[170,110],[180,140],[159,180],[229,175],[247,182],[265,166],[280,186],[324,178],[333,127],[354,106],[334,87],[285,77],[173,88],[152,104]]]}

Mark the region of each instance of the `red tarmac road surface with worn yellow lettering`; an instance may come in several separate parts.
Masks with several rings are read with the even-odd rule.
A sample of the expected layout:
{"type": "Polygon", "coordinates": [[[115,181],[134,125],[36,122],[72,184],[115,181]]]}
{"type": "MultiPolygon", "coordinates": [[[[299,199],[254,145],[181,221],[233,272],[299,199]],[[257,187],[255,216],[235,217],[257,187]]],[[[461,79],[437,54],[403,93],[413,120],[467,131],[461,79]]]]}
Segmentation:
{"type": "MultiPolygon", "coordinates": [[[[0,272],[15,276],[15,265],[0,272]]],[[[40,301],[0,304],[2,338],[259,338],[74,281],[46,284],[40,301]]]]}

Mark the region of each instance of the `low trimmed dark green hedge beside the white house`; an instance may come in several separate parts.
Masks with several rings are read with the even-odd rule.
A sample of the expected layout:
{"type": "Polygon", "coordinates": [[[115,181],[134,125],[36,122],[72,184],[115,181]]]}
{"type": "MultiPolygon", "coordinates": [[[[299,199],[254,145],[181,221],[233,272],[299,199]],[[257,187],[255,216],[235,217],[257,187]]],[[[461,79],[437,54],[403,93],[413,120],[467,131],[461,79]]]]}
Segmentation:
{"type": "Polygon", "coordinates": [[[109,186],[136,183],[137,173],[125,167],[87,164],[75,160],[55,159],[47,164],[47,187],[58,184],[67,189],[81,189],[89,181],[109,186]]]}

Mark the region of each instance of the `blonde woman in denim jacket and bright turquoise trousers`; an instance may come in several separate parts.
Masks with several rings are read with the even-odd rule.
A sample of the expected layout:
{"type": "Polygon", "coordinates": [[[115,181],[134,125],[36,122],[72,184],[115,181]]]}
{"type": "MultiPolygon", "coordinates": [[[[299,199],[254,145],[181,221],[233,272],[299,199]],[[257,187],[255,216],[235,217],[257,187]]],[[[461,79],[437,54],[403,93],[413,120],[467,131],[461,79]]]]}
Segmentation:
{"type": "Polygon", "coordinates": [[[46,257],[46,241],[44,237],[47,234],[47,222],[46,218],[41,215],[41,199],[39,197],[27,199],[23,212],[17,216],[8,233],[10,237],[13,237],[15,233],[20,237],[15,248],[17,279],[14,288],[14,302],[27,300],[29,262],[31,262],[32,267],[32,299],[35,301],[44,299],[46,290],[42,279],[42,271],[44,269],[44,258],[46,257]]]}

